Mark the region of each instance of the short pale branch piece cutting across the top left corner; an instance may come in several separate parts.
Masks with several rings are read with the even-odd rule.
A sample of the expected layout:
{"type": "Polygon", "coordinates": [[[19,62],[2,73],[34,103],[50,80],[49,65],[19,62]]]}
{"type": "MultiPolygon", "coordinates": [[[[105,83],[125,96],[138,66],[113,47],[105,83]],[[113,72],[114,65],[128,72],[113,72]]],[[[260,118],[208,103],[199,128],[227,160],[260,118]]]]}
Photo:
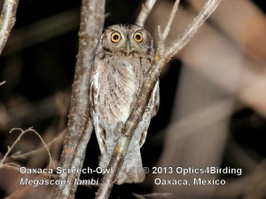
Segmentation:
{"type": "Polygon", "coordinates": [[[5,0],[0,17],[0,55],[16,21],[19,0],[5,0]]]}

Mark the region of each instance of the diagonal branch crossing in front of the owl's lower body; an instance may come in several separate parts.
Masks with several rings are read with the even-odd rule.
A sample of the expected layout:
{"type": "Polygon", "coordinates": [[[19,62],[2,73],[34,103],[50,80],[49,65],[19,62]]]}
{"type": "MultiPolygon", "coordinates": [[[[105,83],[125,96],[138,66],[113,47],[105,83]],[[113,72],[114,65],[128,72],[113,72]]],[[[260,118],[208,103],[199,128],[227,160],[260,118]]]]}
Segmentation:
{"type": "Polygon", "coordinates": [[[115,177],[120,171],[124,157],[129,148],[129,142],[131,141],[136,127],[145,111],[145,107],[152,96],[154,85],[159,79],[161,70],[168,63],[169,59],[173,57],[179,50],[181,50],[187,42],[190,41],[192,35],[196,33],[207,17],[213,11],[215,11],[215,8],[219,3],[220,0],[208,0],[198,16],[192,21],[192,24],[186,28],[184,34],[181,34],[176,41],[170,44],[168,48],[165,48],[167,50],[160,51],[159,46],[156,57],[153,60],[153,65],[145,76],[144,83],[140,90],[139,96],[137,97],[137,102],[135,105],[133,105],[133,107],[137,107],[137,109],[133,109],[131,111],[129,119],[122,128],[122,135],[113,151],[113,156],[108,165],[108,169],[112,169],[113,172],[106,173],[104,176],[101,186],[98,188],[98,193],[96,195],[97,199],[106,199],[111,193],[115,177]]]}

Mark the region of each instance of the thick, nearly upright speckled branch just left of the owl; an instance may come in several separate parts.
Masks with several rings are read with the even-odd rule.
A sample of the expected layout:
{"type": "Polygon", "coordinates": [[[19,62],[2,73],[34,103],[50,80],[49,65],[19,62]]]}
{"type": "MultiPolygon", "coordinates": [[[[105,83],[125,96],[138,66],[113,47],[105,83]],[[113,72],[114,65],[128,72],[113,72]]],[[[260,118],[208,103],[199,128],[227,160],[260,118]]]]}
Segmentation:
{"type": "MultiPolygon", "coordinates": [[[[85,149],[92,132],[88,100],[90,69],[99,35],[104,27],[105,5],[105,0],[82,1],[79,52],[75,65],[66,138],[59,163],[61,167],[67,169],[82,168],[85,149]]],[[[63,187],[55,186],[52,198],[74,198],[77,186],[74,185],[74,179],[79,177],[80,174],[77,173],[59,174],[59,180],[69,180],[71,183],[63,187]]]]}

